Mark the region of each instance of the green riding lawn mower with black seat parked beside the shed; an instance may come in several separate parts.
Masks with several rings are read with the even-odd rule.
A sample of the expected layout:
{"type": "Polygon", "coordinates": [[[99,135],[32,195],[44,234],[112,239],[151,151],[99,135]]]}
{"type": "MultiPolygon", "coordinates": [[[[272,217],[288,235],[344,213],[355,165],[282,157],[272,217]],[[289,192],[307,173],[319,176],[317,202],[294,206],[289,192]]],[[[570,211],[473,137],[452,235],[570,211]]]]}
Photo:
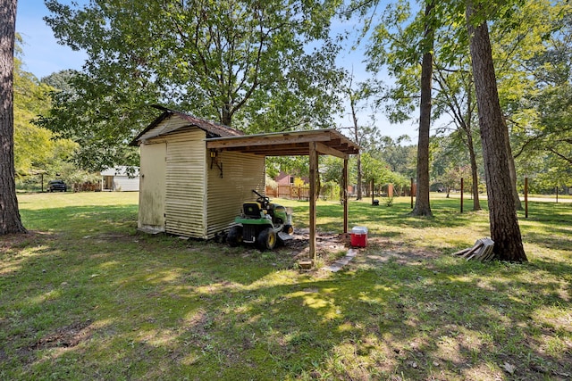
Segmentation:
{"type": "Polygon", "coordinates": [[[226,242],[232,247],[239,244],[255,244],[260,250],[272,250],[293,238],[292,212],[277,203],[270,203],[256,190],[257,201],[242,204],[242,214],[234,219],[236,225],[229,230],[226,242]]]}

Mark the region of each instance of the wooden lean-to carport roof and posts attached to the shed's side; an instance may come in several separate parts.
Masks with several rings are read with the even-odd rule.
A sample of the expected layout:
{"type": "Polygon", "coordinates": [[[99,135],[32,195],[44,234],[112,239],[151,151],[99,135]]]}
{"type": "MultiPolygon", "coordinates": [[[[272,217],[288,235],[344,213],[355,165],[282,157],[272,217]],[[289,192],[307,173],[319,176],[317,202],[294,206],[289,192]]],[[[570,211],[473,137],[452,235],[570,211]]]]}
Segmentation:
{"type": "Polygon", "coordinates": [[[359,146],[333,128],[311,131],[278,132],[238,137],[212,137],[206,139],[206,149],[215,155],[223,151],[252,153],[261,156],[309,157],[310,177],[310,257],[315,260],[316,179],[318,155],[327,154],[343,159],[341,188],[343,192],[343,232],[348,233],[348,160],[359,153],[359,146]]]}

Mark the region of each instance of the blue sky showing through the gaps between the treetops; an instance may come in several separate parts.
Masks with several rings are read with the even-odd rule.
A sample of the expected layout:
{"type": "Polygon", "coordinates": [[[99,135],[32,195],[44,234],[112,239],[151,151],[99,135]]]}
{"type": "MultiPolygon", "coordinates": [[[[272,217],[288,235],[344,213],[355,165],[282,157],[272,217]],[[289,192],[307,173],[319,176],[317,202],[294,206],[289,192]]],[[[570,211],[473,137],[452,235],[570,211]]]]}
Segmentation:
{"type": "MultiPolygon", "coordinates": [[[[79,4],[88,3],[87,0],[76,0],[79,4]]],[[[60,0],[60,3],[70,4],[71,0],[60,0]]],[[[87,58],[87,54],[71,50],[68,46],[62,46],[57,43],[52,29],[46,25],[43,18],[48,15],[44,0],[20,0],[18,1],[18,10],[16,13],[16,31],[21,34],[24,45],[22,61],[24,62],[24,70],[31,72],[38,79],[42,79],[49,74],[59,70],[75,69],[81,70],[83,62],[87,58]]],[[[334,27],[341,27],[340,24],[334,27]]],[[[346,50],[341,54],[339,63],[347,70],[352,70],[355,74],[356,81],[365,80],[365,64],[363,61],[362,51],[346,50]]],[[[391,125],[378,112],[376,115],[376,125],[380,128],[382,135],[391,137],[400,137],[400,135],[408,134],[412,141],[416,141],[416,126],[411,122],[406,122],[400,126],[391,125]]],[[[360,123],[367,123],[369,118],[366,113],[358,115],[360,123]]],[[[338,124],[343,127],[350,126],[349,104],[346,107],[346,115],[338,120],[338,124]]]]}

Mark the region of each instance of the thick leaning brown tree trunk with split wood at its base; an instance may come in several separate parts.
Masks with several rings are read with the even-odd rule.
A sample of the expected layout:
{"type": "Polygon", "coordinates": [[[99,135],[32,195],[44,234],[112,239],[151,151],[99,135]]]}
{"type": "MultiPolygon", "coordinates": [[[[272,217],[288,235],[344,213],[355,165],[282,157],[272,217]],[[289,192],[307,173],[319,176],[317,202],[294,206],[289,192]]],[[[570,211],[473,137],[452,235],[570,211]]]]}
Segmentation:
{"type": "Polygon", "coordinates": [[[527,261],[510,184],[509,158],[501,104],[492,63],[486,21],[473,24],[472,0],[467,0],[467,30],[475,79],[476,102],[483,143],[486,191],[494,253],[502,261],[527,261]]]}

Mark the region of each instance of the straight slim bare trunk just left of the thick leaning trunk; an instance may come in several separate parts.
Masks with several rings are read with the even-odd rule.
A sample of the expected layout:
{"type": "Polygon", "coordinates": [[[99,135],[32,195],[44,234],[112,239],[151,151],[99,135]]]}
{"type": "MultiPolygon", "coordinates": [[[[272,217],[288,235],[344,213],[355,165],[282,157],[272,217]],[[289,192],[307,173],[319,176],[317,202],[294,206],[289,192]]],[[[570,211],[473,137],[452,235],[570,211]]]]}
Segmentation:
{"type": "Polygon", "coordinates": [[[433,216],[429,203],[429,132],[431,129],[431,90],[433,79],[433,0],[425,6],[425,45],[421,63],[421,104],[417,143],[417,191],[413,216],[433,216]]]}

